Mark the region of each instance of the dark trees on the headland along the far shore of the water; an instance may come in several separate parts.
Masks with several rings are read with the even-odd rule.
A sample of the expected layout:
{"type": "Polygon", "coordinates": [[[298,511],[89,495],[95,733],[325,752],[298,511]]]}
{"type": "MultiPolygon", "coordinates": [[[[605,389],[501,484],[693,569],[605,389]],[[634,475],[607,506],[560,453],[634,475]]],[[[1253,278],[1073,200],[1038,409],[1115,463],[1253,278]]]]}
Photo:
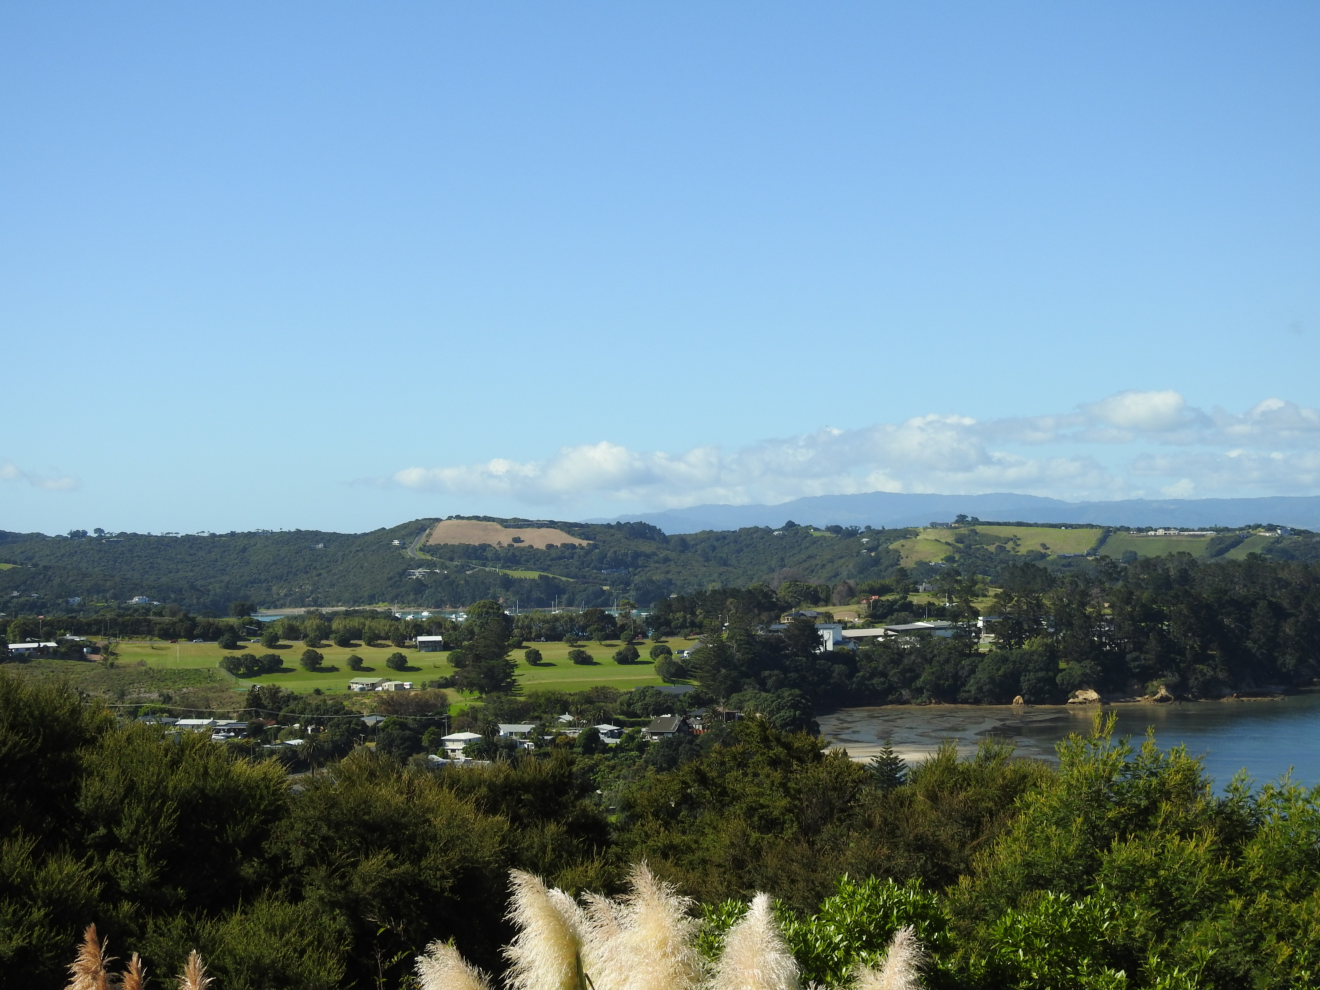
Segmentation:
{"type": "MultiPolygon", "coordinates": [[[[970,605],[975,576],[946,569],[949,603],[932,618],[953,635],[867,640],[818,652],[812,620],[771,630],[781,599],[766,586],[709,590],[660,602],[660,632],[705,628],[686,661],[713,697],[796,692],[808,709],[907,702],[1059,704],[1078,689],[1109,696],[1222,697],[1283,690],[1320,677],[1320,566],[1269,561],[1200,564],[1185,556],[1052,573],[1015,564],[998,576],[981,643],[970,605]]],[[[873,622],[912,622],[908,599],[871,602],[873,622]]],[[[923,614],[927,609],[923,607],[923,614]]]]}

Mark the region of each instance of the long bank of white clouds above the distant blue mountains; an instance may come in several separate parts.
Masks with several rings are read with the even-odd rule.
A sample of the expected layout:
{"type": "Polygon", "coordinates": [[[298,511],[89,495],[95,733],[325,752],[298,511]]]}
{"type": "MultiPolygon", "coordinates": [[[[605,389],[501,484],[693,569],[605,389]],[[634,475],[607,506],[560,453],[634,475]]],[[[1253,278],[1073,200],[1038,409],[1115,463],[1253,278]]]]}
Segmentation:
{"type": "Polygon", "coordinates": [[[601,441],[562,447],[543,461],[407,467],[388,480],[532,506],[605,500],[651,508],[859,491],[1018,491],[1068,499],[1295,494],[1320,488],[1320,413],[1280,399],[1242,414],[1204,412],[1173,391],[1129,391],[1057,414],[977,421],[932,413],[682,454],[601,441]],[[1115,445],[1151,449],[1135,450],[1121,465],[1088,453],[1110,451],[1111,459],[1115,445]],[[1044,446],[1059,450],[1041,455],[1044,446]],[[1159,453],[1170,446],[1199,449],[1159,453]]]}

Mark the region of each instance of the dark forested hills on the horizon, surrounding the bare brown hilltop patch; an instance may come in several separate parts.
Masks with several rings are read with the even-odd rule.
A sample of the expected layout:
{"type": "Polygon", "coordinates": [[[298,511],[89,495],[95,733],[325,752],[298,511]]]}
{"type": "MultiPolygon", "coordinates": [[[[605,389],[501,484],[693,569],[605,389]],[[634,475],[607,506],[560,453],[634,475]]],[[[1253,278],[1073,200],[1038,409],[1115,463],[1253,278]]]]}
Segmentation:
{"type": "MultiPolygon", "coordinates": [[[[645,523],[554,523],[589,546],[428,545],[411,550],[437,520],[420,519],[370,533],[318,531],[66,536],[0,532],[0,602],[4,611],[98,611],[145,598],[223,615],[231,602],[259,607],[404,605],[465,607],[486,598],[521,609],[607,606],[628,598],[649,606],[672,594],[768,583],[857,587],[870,581],[933,581],[948,566],[991,583],[1006,568],[1040,561],[1052,573],[1088,572],[1096,558],[1051,558],[995,545],[1002,537],[974,527],[952,533],[937,562],[900,569],[891,544],[913,529],[816,528],[785,523],[667,536],[645,523]],[[900,573],[902,572],[902,573],[900,573]]],[[[519,525],[523,520],[490,520],[519,525]]],[[[983,524],[989,525],[989,524],[983,524]]],[[[1102,544],[1109,531],[1094,529],[1102,544]]],[[[1212,541],[1213,553],[1238,535],[1212,541]]],[[[1320,536],[1298,533],[1263,546],[1271,560],[1320,560],[1320,536]]],[[[828,598],[828,595],[826,595],[828,598]]]]}

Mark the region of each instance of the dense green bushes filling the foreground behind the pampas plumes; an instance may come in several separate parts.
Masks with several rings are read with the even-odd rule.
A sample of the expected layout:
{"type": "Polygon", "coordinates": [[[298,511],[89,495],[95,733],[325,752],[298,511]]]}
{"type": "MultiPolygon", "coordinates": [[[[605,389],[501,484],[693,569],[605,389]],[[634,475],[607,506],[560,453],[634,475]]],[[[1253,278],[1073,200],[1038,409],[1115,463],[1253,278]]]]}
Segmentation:
{"type": "Polygon", "coordinates": [[[157,978],[201,950],[219,990],[401,990],[436,939],[499,973],[510,869],[612,894],[643,859],[700,902],[708,945],[774,895],[822,987],[907,924],[928,987],[1320,985],[1320,793],[1214,795],[1104,725],[1057,768],[998,744],[863,767],[762,718],[442,770],[325,735],[335,755],[290,777],[0,673],[0,986],[63,986],[91,921],[157,978]]]}

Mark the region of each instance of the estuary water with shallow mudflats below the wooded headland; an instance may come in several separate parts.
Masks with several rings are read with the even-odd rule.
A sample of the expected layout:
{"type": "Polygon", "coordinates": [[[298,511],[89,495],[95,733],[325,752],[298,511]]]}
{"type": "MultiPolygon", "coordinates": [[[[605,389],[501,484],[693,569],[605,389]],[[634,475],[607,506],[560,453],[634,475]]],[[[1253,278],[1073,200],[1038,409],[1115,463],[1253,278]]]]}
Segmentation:
{"type": "MultiPolygon", "coordinates": [[[[998,705],[888,705],[840,709],[820,715],[821,733],[854,759],[870,759],[890,739],[908,763],[953,741],[962,754],[985,738],[1016,744],[1019,756],[1057,762],[1055,743],[1089,733],[1096,705],[1010,708],[998,705]]],[[[1171,705],[1106,705],[1115,713],[1114,737],[1140,744],[1147,726],[1162,748],[1185,744],[1203,756],[1206,775],[1222,788],[1239,770],[1257,784],[1292,771],[1292,780],[1320,784],[1320,693],[1282,700],[1196,701],[1171,705]]]]}

